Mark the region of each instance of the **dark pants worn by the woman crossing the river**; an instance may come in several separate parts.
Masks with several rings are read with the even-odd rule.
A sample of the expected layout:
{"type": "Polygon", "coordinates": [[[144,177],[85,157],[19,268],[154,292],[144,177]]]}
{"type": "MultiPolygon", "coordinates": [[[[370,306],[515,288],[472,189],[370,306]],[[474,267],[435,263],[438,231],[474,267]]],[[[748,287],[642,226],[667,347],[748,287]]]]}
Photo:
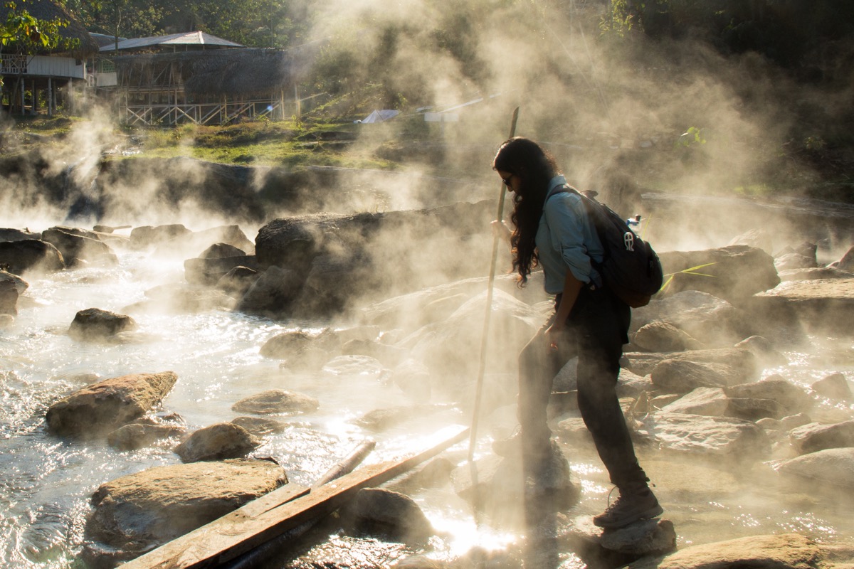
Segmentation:
{"type": "Polygon", "coordinates": [[[629,306],[606,289],[582,288],[557,350],[550,349],[544,337],[553,318],[519,355],[518,417],[526,464],[537,462],[549,449],[552,432],[546,421],[552,382],[564,364],[577,355],[578,409],[611,482],[618,487],[646,483],[616,391],[623,344],[629,341],[629,306]]]}

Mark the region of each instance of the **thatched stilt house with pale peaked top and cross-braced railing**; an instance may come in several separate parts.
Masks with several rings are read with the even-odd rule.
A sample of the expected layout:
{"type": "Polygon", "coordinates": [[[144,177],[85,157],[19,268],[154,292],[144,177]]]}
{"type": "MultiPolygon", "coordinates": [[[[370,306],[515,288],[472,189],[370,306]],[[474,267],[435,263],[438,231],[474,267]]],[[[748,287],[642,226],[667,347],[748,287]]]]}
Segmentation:
{"type": "Polygon", "coordinates": [[[101,69],[114,69],[115,83],[97,86],[114,95],[129,125],[283,119],[298,113],[307,54],[245,48],[203,32],[127,39],[101,48],[101,69]]]}

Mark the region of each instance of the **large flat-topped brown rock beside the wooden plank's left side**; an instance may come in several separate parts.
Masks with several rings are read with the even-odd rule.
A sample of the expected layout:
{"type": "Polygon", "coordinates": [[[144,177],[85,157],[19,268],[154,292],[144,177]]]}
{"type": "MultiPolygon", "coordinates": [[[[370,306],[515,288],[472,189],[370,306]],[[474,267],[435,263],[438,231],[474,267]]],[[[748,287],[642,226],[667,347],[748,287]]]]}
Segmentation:
{"type": "Polygon", "coordinates": [[[114,479],[92,495],[85,537],[125,560],[172,541],[287,484],[271,461],[235,459],[155,467],[114,479]]]}

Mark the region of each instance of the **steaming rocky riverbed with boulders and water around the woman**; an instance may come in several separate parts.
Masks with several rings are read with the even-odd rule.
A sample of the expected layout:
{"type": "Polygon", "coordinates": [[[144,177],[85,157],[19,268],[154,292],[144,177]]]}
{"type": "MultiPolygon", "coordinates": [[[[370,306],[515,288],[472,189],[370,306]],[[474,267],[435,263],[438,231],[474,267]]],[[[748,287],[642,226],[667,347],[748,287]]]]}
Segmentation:
{"type": "MultiPolygon", "coordinates": [[[[491,211],[278,218],[254,236],[0,231],[5,564],[114,566],[289,481],[313,484],[366,439],[375,463],[471,425],[491,211]]],[[[477,485],[457,445],[272,566],[854,564],[851,243],[824,258],[767,237],[659,247],[673,279],[634,312],[620,394],[661,520],[589,525],[610,486],[568,365],[543,521],[518,522],[538,490],[500,441],[516,427],[516,354],[551,302],[536,277],[519,289],[500,276],[477,485]]]]}

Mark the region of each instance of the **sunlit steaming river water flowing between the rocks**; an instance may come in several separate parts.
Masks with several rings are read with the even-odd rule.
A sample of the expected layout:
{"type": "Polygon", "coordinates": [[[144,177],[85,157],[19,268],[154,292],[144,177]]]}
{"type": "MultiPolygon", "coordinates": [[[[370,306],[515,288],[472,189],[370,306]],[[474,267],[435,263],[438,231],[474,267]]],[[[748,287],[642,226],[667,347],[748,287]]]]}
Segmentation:
{"type": "MultiPolygon", "coordinates": [[[[89,497],[110,479],[144,468],[176,464],[168,444],[132,452],[103,442],[77,442],[46,432],[44,413],[56,400],[94,379],[121,374],[173,370],[178,383],[164,409],[181,415],[190,430],[227,421],[237,400],[266,389],[304,392],[321,402],[311,414],[288,418],[284,433],[266,438],[254,456],[273,456],[292,481],[314,479],[366,438],[377,440],[367,462],[380,462],[421,450],[450,425],[468,425],[468,409],[449,405],[383,433],[366,433],[353,420],[371,409],[410,404],[400,390],[383,381],[386,370],[366,357],[339,357],[324,369],[295,372],[260,356],[260,347],[276,334],[303,329],[317,332],[332,322],[275,322],[229,311],[137,316],[139,329],[120,344],[83,344],[65,334],[77,311],[97,307],[121,312],[145,298],[152,287],[184,280],[180,259],[117,250],[110,268],[67,270],[50,276],[26,276],[30,287],[19,300],[15,324],[0,331],[0,566],[59,568],[80,566],[75,555],[83,538],[89,497]]],[[[814,339],[819,340],[819,339],[814,339]]],[[[826,339],[821,339],[826,340],[826,339]]],[[[854,379],[851,340],[835,339],[815,349],[787,351],[789,364],[766,369],[802,386],[842,371],[854,379]],[[828,355],[837,355],[835,360],[828,355]],[[846,356],[847,354],[847,356],[846,356]]],[[[845,405],[825,405],[829,413],[851,415],[845,405]]],[[[511,416],[512,415],[507,415],[511,416]]],[[[484,422],[478,454],[501,430],[484,422]]],[[[505,425],[505,433],[512,425],[505,425]]],[[[172,442],[174,443],[174,441],[172,442]]],[[[465,444],[455,448],[465,458],[465,444]]],[[[600,462],[589,446],[565,446],[582,484],[582,500],[566,514],[595,514],[608,491],[600,462]]],[[[851,496],[777,485],[762,463],[722,465],[693,457],[681,462],[639,449],[641,462],[658,486],[665,516],[676,524],[678,544],[708,543],[730,537],[796,531],[825,543],[851,536],[851,496]]],[[[428,554],[448,559],[474,546],[501,549],[519,539],[519,528],[478,523],[471,508],[450,485],[418,491],[440,537],[428,554]]],[[[312,560],[338,560],[353,567],[389,566],[412,553],[400,544],[334,536],[303,549],[296,560],[276,566],[312,566],[312,560]]],[[[584,566],[564,553],[565,568],[584,566]]]]}

